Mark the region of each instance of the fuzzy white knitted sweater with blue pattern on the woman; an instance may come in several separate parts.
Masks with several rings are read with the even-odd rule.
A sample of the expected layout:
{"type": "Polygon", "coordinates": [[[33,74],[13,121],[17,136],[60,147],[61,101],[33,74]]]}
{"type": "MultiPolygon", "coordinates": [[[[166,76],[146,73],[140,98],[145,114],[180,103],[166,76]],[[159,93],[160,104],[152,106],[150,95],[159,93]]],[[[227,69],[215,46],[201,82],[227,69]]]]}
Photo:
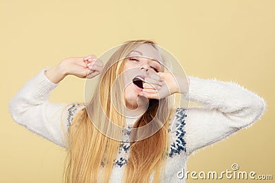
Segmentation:
{"type": "MultiPolygon", "coordinates": [[[[74,115],[78,110],[85,110],[85,106],[81,103],[50,102],[50,94],[58,84],[45,76],[47,69],[49,67],[42,69],[12,97],[9,109],[14,121],[66,148],[61,127],[64,125],[65,133],[69,132],[74,115]]],[[[192,76],[188,79],[189,90],[184,95],[185,99],[202,105],[177,108],[170,119],[170,151],[162,182],[185,182],[177,174],[186,169],[190,154],[251,126],[265,112],[265,100],[239,84],[192,76]]],[[[135,120],[126,119],[127,131],[131,132],[135,120]]],[[[122,182],[129,147],[127,142],[120,144],[110,182],[122,182]]]]}

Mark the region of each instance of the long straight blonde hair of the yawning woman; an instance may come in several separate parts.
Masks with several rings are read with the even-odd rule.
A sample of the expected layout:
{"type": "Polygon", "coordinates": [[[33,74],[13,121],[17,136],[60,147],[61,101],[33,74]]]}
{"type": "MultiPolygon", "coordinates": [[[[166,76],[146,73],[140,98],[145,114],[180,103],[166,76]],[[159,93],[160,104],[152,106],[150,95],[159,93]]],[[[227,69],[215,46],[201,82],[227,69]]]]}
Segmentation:
{"type": "MultiPolygon", "coordinates": [[[[119,105],[123,100],[123,96],[118,95],[123,92],[123,81],[118,75],[122,73],[125,57],[130,51],[143,43],[155,45],[152,40],[130,40],[124,43],[105,64],[97,90],[86,110],[80,110],[69,127],[65,182],[109,182],[120,147],[117,139],[122,138],[122,127],[125,126],[125,118],[118,112],[124,111],[119,105]],[[114,83],[115,80],[119,80],[118,84],[114,83]],[[113,107],[112,103],[116,106],[113,107]],[[100,169],[101,175],[98,173],[100,169]]],[[[123,174],[124,182],[150,182],[151,175],[153,182],[160,182],[168,155],[168,120],[171,111],[171,96],[149,100],[146,112],[137,119],[133,128],[153,122],[159,130],[142,141],[131,142],[130,156],[123,174]]],[[[131,138],[135,136],[137,133],[131,133],[131,138]]]]}

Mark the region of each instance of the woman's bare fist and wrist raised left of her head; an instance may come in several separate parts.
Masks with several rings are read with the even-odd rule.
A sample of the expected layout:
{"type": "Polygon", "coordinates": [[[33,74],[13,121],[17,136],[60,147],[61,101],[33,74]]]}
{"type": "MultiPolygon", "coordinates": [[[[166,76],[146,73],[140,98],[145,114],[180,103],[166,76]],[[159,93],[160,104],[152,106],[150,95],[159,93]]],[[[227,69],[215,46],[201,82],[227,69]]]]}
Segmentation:
{"type": "Polygon", "coordinates": [[[103,62],[94,55],[87,57],[72,57],[62,60],[58,65],[45,72],[45,75],[54,83],[61,82],[67,75],[80,78],[93,78],[100,74],[103,62]]]}

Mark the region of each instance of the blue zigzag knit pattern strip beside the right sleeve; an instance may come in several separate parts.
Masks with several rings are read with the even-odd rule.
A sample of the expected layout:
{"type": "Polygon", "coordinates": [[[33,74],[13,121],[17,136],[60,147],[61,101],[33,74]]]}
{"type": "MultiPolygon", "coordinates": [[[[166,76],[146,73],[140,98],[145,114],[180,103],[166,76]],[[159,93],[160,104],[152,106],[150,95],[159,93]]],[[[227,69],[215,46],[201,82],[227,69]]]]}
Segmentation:
{"type": "Polygon", "coordinates": [[[168,154],[168,156],[171,158],[175,156],[175,154],[180,154],[181,151],[186,152],[186,141],[184,140],[184,134],[186,133],[184,131],[184,125],[186,125],[186,123],[184,122],[184,118],[187,117],[187,115],[185,114],[185,110],[185,108],[177,108],[176,110],[175,117],[177,119],[177,140],[170,145],[170,153],[168,154]]]}

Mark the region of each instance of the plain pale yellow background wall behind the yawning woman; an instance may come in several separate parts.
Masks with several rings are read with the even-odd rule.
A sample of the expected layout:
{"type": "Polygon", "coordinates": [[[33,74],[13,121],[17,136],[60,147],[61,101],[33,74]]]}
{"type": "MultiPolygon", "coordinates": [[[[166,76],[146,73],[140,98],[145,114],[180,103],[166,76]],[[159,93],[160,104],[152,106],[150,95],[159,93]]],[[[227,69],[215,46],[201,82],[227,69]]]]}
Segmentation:
{"type": "MultiPolygon", "coordinates": [[[[267,0],[1,1],[0,182],[62,181],[65,150],[14,123],[8,112],[17,90],[45,66],[99,56],[139,38],[173,53],[187,75],[234,81],[267,101],[261,120],[190,156],[188,171],[221,172],[236,162],[240,171],[272,174],[274,180],[274,10],[275,1],[267,0]]],[[[50,101],[83,101],[84,84],[68,76],[50,101]]]]}

